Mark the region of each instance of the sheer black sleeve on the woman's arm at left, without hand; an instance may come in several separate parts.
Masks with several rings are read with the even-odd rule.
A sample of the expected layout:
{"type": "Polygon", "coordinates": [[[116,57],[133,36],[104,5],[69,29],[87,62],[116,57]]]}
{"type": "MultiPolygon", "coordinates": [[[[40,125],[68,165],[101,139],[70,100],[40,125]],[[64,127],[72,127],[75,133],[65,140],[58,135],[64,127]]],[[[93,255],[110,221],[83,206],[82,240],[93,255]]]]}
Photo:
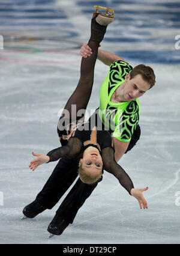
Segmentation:
{"type": "Polygon", "coordinates": [[[68,141],[68,144],[59,148],[55,148],[49,153],[47,153],[47,156],[49,156],[50,160],[49,162],[53,162],[58,160],[61,157],[67,156],[67,157],[75,157],[77,154],[80,153],[82,147],[82,142],[76,138],[70,138],[68,141]]]}

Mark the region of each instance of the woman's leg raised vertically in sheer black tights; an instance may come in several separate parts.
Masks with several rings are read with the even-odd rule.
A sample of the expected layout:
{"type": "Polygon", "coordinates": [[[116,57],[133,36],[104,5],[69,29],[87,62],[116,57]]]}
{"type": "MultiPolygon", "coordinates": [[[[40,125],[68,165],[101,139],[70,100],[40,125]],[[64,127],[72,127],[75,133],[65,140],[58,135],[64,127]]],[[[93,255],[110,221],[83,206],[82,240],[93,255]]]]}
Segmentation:
{"type": "MultiPolygon", "coordinates": [[[[107,25],[113,21],[112,17],[110,16],[110,22],[105,21],[103,25],[100,25],[100,23],[97,23],[95,20],[98,15],[99,13],[94,13],[93,19],[91,20],[91,38],[89,39],[88,44],[92,49],[92,55],[88,58],[82,58],[79,82],[74,90],[74,93],[71,95],[70,99],[68,99],[68,102],[64,108],[65,111],[62,112],[61,118],[64,117],[66,111],[68,111],[71,121],[79,120],[81,117],[77,117],[77,112],[80,109],[85,110],[86,106],[88,105],[94,81],[94,67],[97,59],[98,46],[103,40],[107,25]],[[72,105],[76,105],[75,115],[71,109],[72,105]]],[[[98,19],[98,22],[100,21],[101,19],[98,19]]],[[[59,130],[61,130],[61,118],[58,124],[59,130]]],[[[62,127],[62,129],[64,129],[64,127],[62,127]]]]}

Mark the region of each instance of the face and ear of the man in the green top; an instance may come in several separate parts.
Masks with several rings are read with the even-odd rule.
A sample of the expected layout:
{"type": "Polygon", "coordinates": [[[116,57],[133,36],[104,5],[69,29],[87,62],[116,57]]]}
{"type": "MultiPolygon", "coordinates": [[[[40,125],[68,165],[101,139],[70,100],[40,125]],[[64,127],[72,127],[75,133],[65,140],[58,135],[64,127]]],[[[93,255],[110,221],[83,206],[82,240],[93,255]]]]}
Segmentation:
{"type": "Polygon", "coordinates": [[[150,88],[148,82],[144,81],[142,75],[138,74],[130,79],[130,74],[125,78],[124,101],[130,102],[146,93],[150,88]]]}

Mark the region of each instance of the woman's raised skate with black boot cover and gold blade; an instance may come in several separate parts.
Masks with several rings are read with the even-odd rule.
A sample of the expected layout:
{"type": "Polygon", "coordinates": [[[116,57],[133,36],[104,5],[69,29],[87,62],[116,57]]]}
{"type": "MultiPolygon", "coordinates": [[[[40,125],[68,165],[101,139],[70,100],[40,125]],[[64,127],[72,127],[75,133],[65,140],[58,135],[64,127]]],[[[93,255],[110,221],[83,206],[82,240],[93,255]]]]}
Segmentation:
{"type": "Polygon", "coordinates": [[[94,8],[96,9],[96,11],[93,13],[91,20],[90,40],[100,43],[104,38],[104,34],[106,33],[107,25],[112,23],[114,20],[114,11],[109,8],[97,5],[94,5],[94,8]],[[99,9],[105,10],[106,14],[99,13],[99,9]],[[112,14],[109,14],[109,12],[111,12],[112,14]]]}

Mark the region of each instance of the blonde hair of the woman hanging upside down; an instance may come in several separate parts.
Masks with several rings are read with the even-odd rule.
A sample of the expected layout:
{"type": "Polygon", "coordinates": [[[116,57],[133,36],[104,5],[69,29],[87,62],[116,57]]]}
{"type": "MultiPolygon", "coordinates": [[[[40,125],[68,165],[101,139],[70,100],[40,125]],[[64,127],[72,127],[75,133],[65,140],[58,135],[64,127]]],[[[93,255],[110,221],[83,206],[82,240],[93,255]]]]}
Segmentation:
{"type": "Polygon", "coordinates": [[[95,181],[99,180],[102,175],[102,169],[96,175],[87,174],[85,169],[82,168],[82,163],[78,169],[79,178],[83,183],[93,184],[95,181]]]}

